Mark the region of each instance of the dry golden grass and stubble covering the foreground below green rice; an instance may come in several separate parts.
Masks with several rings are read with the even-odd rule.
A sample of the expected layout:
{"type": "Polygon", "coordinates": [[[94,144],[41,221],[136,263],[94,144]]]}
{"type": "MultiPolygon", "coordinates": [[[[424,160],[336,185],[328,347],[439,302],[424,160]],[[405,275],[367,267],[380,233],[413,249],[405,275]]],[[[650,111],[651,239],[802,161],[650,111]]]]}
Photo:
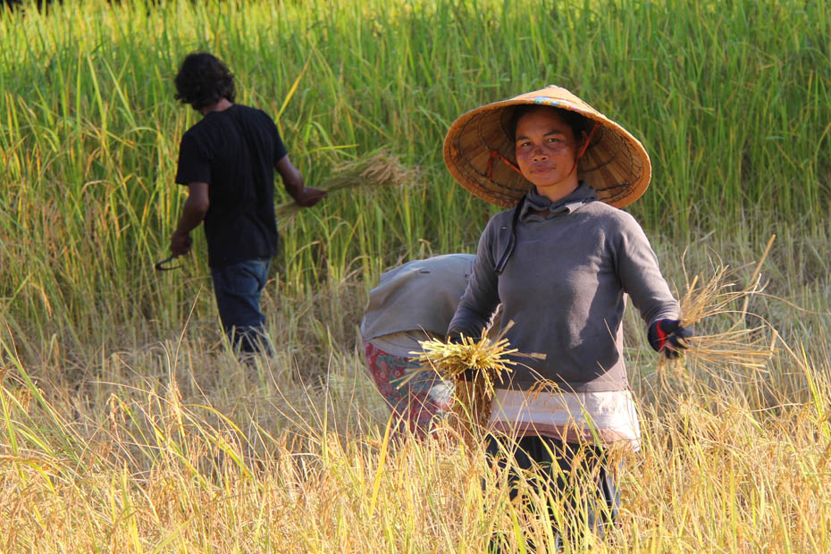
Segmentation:
{"type": "MultiPolygon", "coordinates": [[[[279,354],[253,365],[222,349],[213,320],[117,351],[58,350],[6,328],[0,552],[474,553],[494,533],[508,551],[548,548],[551,526],[508,499],[481,443],[390,440],[342,321],[360,301],[339,295],[357,290],[266,295],[279,354]]],[[[812,294],[800,303],[827,299],[812,294]]],[[[827,315],[789,326],[793,306],[751,305],[781,331],[766,373],[690,357],[683,382],[660,382],[651,350],[626,351],[642,451],[625,458],[621,525],[567,552],[831,551],[827,315]]],[[[520,487],[544,509],[532,483],[520,487]]]]}

